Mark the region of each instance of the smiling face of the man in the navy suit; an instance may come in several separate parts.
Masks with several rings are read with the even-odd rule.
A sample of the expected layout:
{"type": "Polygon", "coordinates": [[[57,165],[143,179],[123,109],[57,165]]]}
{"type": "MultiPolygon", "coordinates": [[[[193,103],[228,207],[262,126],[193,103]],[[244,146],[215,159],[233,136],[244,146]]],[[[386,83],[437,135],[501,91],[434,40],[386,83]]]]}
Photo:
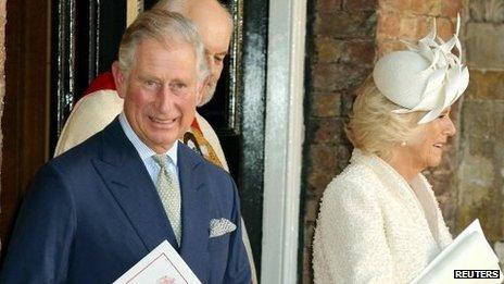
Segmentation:
{"type": "Polygon", "coordinates": [[[163,153],[189,128],[200,100],[194,52],[187,42],[147,39],[135,58],[127,77],[114,63],[117,92],[131,128],[163,153]]]}

